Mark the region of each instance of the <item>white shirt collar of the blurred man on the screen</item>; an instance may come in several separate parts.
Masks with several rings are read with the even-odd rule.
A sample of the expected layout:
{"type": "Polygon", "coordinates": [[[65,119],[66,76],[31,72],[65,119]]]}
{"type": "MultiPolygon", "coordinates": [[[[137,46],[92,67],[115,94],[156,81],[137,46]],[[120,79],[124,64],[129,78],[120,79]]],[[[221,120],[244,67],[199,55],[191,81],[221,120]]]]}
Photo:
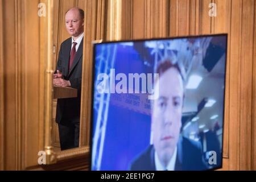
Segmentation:
{"type": "Polygon", "coordinates": [[[177,146],[175,147],[175,150],[174,150],[174,154],[172,155],[172,158],[170,160],[170,162],[168,163],[167,165],[167,168],[164,167],[159,158],[158,158],[158,155],[156,154],[156,151],[155,151],[155,168],[156,168],[156,171],[174,171],[175,169],[175,162],[176,162],[176,157],[177,157],[177,146]]]}

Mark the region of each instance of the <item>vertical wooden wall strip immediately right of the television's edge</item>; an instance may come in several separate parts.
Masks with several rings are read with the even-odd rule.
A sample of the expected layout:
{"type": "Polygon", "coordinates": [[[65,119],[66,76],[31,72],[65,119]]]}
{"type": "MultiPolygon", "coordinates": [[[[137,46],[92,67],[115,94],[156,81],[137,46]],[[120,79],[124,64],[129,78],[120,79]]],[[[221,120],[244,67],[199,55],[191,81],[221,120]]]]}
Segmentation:
{"type": "Polygon", "coordinates": [[[232,1],[230,29],[229,169],[240,166],[241,30],[242,1],[232,1]],[[232,63],[231,63],[232,61],[232,63]]]}

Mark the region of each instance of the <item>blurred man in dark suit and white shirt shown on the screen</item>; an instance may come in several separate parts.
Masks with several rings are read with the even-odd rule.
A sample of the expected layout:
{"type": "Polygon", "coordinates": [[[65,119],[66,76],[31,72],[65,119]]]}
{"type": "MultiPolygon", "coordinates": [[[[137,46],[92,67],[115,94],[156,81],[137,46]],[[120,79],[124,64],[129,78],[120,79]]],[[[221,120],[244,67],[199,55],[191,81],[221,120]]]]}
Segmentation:
{"type": "Polygon", "coordinates": [[[167,58],[158,65],[155,80],[158,97],[152,102],[151,130],[153,144],[139,155],[131,170],[203,170],[200,143],[180,136],[184,101],[185,70],[177,61],[167,58]]]}

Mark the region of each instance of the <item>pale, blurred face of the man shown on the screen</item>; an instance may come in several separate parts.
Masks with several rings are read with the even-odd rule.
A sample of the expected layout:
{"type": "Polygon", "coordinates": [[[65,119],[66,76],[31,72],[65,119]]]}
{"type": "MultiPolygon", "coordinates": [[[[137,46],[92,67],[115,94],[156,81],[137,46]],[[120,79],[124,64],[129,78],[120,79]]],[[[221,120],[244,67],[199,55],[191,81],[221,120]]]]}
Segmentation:
{"type": "Polygon", "coordinates": [[[159,98],[152,110],[153,142],[158,158],[167,166],[180,135],[183,105],[183,81],[179,71],[171,67],[156,82],[159,98]]]}

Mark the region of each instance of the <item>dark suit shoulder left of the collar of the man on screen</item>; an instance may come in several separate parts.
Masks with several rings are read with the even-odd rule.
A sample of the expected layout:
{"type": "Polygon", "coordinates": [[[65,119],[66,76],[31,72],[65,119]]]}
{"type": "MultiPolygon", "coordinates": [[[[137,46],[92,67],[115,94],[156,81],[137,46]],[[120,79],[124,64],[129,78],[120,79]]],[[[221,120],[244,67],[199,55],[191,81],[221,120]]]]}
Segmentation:
{"type": "Polygon", "coordinates": [[[150,145],[139,154],[129,168],[131,171],[155,171],[154,146],[150,145]]]}

